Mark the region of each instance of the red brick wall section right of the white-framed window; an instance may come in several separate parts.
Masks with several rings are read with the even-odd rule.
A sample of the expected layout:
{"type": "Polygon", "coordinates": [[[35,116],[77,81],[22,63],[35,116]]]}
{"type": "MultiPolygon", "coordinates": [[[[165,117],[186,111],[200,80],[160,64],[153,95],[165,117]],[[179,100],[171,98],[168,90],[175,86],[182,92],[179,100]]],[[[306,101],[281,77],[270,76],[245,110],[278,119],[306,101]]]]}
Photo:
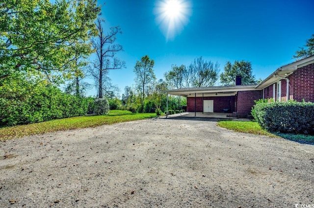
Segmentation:
{"type": "Polygon", "coordinates": [[[296,101],[314,102],[314,64],[295,70],[289,75],[290,97],[296,101]]]}

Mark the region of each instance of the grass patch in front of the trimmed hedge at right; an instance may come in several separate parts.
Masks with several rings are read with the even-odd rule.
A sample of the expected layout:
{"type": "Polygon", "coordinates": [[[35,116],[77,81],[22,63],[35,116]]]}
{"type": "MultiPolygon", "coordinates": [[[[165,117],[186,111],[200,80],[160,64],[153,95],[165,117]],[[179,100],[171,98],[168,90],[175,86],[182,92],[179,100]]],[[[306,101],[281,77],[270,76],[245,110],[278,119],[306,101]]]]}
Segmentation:
{"type": "Polygon", "coordinates": [[[263,130],[257,122],[253,121],[219,121],[217,126],[234,130],[235,132],[264,135],[268,137],[282,137],[299,143],[314,144],[313,135],[269,133],[266,130],[263,130]]]}

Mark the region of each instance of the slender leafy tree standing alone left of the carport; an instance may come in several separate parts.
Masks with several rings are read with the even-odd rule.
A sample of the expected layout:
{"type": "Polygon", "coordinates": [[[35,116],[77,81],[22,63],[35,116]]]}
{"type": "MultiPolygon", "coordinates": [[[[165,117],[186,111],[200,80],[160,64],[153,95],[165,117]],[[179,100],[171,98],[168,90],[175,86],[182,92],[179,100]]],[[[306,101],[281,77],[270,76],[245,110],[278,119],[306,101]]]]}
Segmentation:
{"type": "Polygon", "coordinates": [[[134,72],[135,72],[135,82],[137,87],[141,89],[141,105],[144,107],[145,99],[145,89],[149,84],[156,80],[154,73],[155,61],[150,59],[148,55],[145,55],[141,58],[141,61],[136,61],[134,72]]]}

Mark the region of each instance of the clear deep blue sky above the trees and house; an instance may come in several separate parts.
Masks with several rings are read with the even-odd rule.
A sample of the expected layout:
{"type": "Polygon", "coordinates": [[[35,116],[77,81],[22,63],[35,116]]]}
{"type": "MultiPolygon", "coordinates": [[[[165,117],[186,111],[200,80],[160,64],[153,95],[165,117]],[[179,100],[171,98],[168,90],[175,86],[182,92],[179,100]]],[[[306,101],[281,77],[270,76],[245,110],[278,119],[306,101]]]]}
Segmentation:
{"type": "Polygon", "coordinates": [[[109,73],[120,95],[135,83],[133,68],[144,55],[155,60],[157,79],[164,79],[172,64],[188,65],[199,56],[218,62],[221,72],[227,61],[250,61],[256,78],[264,79],[293,62],[294,52],[314,34],[313,0],[182,0],[189,8],[187,21],[167,37],[156,14],[166,1],[98,1],[105,3],[105,28],[120,25],[123,31],[116,43],[124,51],[116,56],[127,68],[109,73]]]}

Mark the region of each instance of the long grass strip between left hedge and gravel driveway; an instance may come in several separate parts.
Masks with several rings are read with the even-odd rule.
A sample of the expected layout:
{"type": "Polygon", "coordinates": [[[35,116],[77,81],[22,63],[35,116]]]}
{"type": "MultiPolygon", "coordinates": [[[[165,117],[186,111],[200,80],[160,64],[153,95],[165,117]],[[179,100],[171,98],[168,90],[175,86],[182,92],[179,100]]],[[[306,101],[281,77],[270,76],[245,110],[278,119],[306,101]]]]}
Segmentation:
{"type": "Polygon", "coordinates": [[[109,112],[109,115],[106,116],[78,116],[45,121],[41,123],[0,128],[0,140],[68,129],[96,127],[105,124],[120,123],[131,120],[141,120],[153,117],[156,117],[155,113],[133,114],[130,111],[112,110],[109,112]]]}

